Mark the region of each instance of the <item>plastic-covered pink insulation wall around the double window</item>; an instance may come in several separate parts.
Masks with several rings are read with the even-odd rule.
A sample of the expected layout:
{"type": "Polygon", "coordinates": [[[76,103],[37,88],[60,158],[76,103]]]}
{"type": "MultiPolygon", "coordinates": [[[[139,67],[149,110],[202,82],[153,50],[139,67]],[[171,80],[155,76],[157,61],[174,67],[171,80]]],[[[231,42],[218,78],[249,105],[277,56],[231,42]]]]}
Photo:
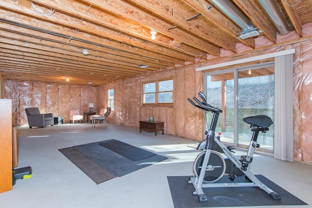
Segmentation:
{"type": "Polygon", "coordinates": [[[108,117],[108,123],[138,128],[140,120],[148,120],[150,116],[154,116],[156,121],[165,122],[165,133],[202,140],[202,112],[187,101],[188,97],[193,97],[202,90],[202,74],[195,72],[194,66],[99,86],[98,100],[105,100],[104,107],[107,107],[109,89],[114,89],[115,109],[108,117]],[[174,80],[174,104],[143,106],[141,102],[143,82],[165,78],[174,80]]]}

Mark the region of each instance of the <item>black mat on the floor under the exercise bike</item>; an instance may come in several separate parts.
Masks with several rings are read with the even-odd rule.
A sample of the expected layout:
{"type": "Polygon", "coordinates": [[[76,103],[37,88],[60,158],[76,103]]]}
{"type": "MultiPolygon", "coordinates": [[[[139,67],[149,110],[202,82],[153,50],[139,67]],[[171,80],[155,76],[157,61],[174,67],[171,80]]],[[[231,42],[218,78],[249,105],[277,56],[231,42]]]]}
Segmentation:
{"type": "MultiPolygon", "coordinates": [[[[193,184],[187,181],[189,176],[168,176],[168,183],[175,208],[210,208],[210,207],[250,207],[250,206],[280,206],[280,205],[307,205],[291,193],[282,189],[263,175],[256,177],[270,189],[281,196],[280,201],[273,200],[269,194],[258,187],[228,187],[204,188],[207,202],[199,202],[198,196],[192,192],[193,184]]],[[[250,182],[244,176],[237,177],[235,183],[250,182]]],[[[227,176],[218,183],[231,183],[227,176]]]]}

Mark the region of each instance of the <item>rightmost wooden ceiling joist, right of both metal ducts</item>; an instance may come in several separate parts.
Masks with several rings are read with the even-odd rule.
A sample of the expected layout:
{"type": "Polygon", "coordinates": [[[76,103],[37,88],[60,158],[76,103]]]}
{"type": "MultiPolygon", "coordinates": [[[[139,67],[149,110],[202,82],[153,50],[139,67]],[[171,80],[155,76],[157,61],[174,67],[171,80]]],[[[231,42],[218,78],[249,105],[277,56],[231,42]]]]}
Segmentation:
{"type": "Polygon", "coordinates": [[[299,38],[302,38],[302,23],[292,0],[281,1],[299,38]],[[291,6],[289,6],[291,5],[291,6]]]}

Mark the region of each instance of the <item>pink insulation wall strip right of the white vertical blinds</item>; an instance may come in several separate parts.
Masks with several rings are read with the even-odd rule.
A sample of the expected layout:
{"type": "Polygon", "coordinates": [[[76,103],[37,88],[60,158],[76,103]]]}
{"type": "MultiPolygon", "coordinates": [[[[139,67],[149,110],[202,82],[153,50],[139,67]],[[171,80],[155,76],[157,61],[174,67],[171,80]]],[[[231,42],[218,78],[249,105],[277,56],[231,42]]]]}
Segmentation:
{"type": "Polygon", "coordinates": [[[312,40],[296,44],[294,61],[294,159],[312,162],[312,40]],[[300,53],[299,53],[300,52],[300,53]]]}

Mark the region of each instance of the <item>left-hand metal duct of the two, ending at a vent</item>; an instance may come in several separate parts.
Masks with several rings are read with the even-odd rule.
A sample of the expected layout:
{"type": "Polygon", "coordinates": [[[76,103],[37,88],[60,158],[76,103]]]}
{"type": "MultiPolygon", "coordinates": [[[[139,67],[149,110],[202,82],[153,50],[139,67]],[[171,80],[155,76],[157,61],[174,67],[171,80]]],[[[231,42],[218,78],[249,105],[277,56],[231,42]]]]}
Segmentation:
{"type": "Polygon", "coordinates": [[[222,11],[226,16],[232,19],[242,32],[256,28],[246,16],[239,11],[236,6],[229,0],[209,0],[215,7],[222,11]]]}

